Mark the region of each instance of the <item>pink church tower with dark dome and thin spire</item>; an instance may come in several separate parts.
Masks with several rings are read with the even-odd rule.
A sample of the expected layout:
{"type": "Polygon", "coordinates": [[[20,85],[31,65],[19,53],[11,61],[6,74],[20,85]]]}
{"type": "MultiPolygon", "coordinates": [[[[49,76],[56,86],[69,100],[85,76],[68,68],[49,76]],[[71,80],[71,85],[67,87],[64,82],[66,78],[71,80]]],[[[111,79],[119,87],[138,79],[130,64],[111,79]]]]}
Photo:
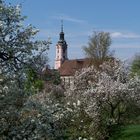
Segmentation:
{"type": "Polygon", "coordinates": [[[59,69],[62,63],[67,59],[67,43],[63,32],[63,21],[61,21],[61,32],[59,34],[59,41],[56,44],[55,69],[59,69]]]}

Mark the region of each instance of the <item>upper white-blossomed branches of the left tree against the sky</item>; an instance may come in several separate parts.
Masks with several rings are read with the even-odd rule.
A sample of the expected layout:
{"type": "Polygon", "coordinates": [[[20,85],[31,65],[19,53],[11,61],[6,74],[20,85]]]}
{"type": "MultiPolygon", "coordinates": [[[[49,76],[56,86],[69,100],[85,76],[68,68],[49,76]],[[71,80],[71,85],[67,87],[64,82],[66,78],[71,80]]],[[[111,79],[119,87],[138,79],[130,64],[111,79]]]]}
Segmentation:
{"type": "MultiPolygon", "coordinates": [[[[24,27],[25,17],[21,16],[20,6],[7,6],[0,2],[0,68],[2,73],[12,75],[30,66],[30,60],[38,56],[37,51],[48,49],[47,41],[34,41],[38,30],[32,25],[24,27]],[[27,66],[27,67],[28,67],[27,66]]],[[[42,54],[42,53],[40,53],[42,54]]]]}

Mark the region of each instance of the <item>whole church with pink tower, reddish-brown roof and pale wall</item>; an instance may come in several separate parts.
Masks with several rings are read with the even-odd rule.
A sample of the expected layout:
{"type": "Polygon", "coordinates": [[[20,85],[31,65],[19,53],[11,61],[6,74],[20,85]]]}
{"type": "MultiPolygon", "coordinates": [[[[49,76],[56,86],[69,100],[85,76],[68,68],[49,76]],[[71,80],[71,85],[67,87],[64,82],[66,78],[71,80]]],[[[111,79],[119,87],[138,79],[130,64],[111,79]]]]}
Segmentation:
{"type": "Polygon", "coordinates": [[[60,73],[62,83],[64,85],[71,86],[73,84],[73,78],[76,71],[89,67],[91,60],[88,58],[82,59],[68,59],[68,44],[65,40],[65,34],[63,31],[63,22],[61,23],[61,32],[59,34],[59,40],[56,44],[56,57],[55,57],[55,69],[60,73]]]}

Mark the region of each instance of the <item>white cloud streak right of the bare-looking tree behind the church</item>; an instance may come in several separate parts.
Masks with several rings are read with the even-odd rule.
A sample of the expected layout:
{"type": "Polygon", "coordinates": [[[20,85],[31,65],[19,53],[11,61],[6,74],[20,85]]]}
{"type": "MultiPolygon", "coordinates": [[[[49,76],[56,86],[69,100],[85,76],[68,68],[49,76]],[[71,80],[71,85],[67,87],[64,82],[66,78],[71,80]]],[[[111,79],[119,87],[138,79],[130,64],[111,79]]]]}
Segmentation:
{"type": "Polygon", "coordinates": [[[112,38],[140,39],[140,35],[136,33],[111,32],[110,34],[112,38]]]}

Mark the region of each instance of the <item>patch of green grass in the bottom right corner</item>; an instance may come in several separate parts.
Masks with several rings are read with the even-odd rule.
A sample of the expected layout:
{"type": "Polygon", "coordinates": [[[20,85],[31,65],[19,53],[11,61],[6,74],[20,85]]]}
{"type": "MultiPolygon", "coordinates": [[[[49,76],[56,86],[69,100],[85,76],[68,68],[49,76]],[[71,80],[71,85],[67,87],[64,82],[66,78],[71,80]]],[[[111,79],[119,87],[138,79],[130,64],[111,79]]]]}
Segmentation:
{"type": "Polygon", "coordinates": [[[140,124],[121,127],[109,140],[140,140],[140,124]]]}

